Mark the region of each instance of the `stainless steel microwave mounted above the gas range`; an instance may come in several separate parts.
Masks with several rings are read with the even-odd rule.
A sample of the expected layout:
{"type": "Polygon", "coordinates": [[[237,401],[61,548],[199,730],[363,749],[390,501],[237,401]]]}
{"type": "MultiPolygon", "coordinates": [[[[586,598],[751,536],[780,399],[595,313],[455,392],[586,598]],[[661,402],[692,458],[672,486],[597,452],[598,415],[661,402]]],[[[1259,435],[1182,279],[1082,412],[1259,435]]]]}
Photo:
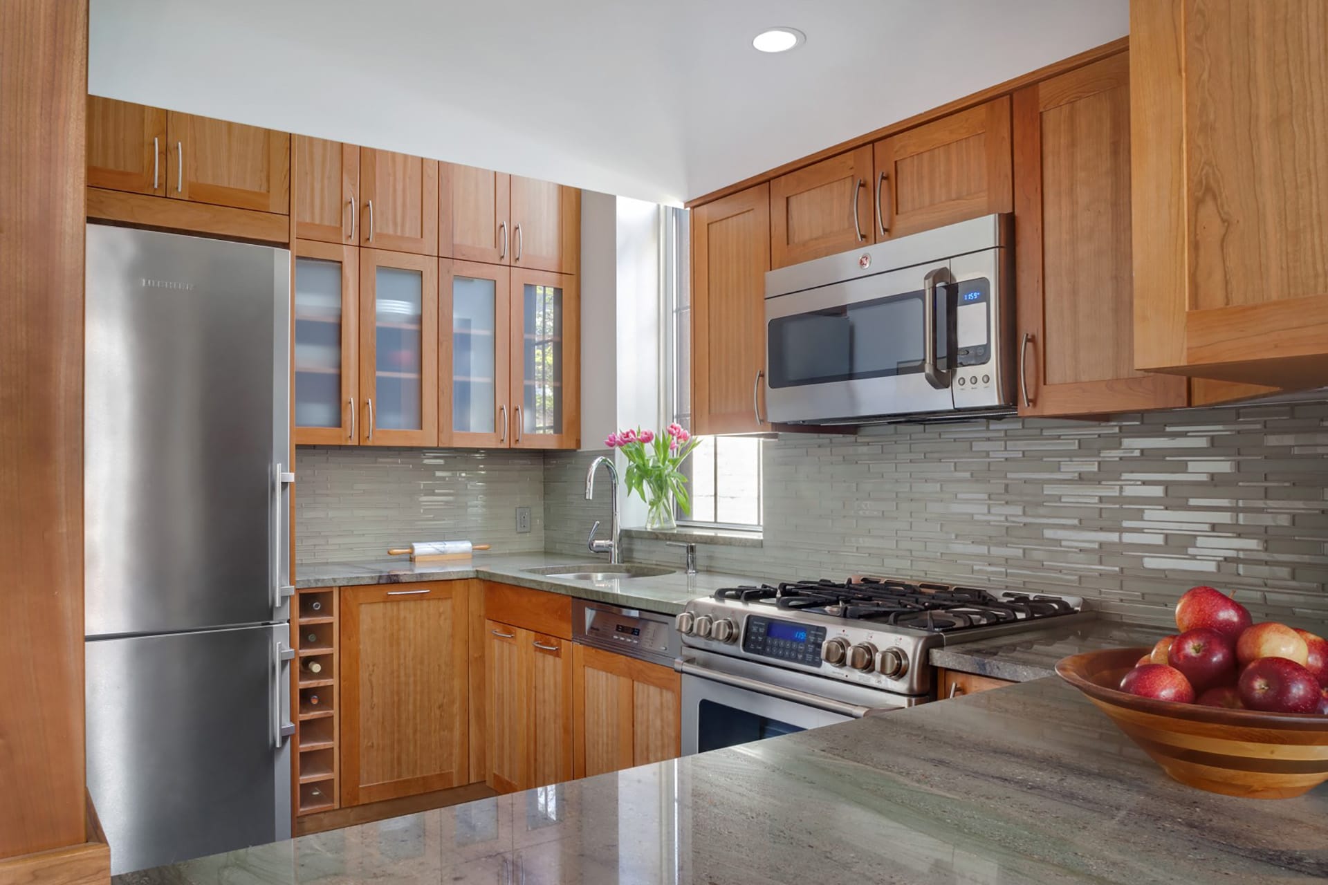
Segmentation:
{"type": "Polygon", "coordinates": [[[1011,414],[1012,244],[1011,216],[988,215],[766,273],[769,414],[756,397],[757,418],[1011,414]]]}

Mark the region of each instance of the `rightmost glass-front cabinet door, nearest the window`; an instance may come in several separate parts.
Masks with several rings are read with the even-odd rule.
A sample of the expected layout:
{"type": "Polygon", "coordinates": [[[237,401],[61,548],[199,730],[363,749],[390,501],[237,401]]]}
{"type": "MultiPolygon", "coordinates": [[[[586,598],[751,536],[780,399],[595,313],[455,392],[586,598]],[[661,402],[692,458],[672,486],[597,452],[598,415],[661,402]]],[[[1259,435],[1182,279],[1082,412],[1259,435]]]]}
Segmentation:
{"type": "Polygon", "coordinates": [[[580,443],[576,277],[511,271],[511,434],[519,448],[580,443]]]}

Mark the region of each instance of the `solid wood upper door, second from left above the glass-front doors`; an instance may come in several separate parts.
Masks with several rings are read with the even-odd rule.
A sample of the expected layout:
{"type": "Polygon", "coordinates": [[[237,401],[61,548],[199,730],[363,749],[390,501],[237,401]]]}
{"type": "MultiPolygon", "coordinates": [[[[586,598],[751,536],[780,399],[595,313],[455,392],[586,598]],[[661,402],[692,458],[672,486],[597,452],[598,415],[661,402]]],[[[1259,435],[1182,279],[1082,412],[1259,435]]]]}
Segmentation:
{"type": "Polygon", "coordinates": [[[438,161],[360,149],[360,245],[438,255],[438,161]]]}

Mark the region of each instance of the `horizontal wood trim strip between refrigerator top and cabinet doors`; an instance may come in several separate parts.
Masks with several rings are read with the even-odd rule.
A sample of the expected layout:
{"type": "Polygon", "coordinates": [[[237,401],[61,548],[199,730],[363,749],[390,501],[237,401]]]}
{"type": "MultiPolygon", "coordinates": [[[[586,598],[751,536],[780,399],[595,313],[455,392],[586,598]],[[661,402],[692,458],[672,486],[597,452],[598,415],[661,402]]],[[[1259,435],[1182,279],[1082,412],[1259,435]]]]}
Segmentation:
{"type": "Polygon", "coordinates": [[[190,203],[149,194],[108,191],[101,187],[88,188],[88,218],[163,231],[275,243],[283,247],[291,243],[288,215],[190,203]]]}

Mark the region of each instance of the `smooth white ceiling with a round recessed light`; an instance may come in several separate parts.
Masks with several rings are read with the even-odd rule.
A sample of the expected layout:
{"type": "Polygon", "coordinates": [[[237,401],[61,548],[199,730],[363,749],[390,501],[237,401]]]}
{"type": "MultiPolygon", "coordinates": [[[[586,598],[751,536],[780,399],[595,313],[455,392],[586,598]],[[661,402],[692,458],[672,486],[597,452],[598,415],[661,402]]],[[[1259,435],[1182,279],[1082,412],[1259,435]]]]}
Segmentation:
{"type": "Polygon", "coordinates": [[[679,203],[1114,40],[1129,0],[92,0],[89,90],[679,203]],[[752,49],[772,25],[806,42],[752,49]]]}

